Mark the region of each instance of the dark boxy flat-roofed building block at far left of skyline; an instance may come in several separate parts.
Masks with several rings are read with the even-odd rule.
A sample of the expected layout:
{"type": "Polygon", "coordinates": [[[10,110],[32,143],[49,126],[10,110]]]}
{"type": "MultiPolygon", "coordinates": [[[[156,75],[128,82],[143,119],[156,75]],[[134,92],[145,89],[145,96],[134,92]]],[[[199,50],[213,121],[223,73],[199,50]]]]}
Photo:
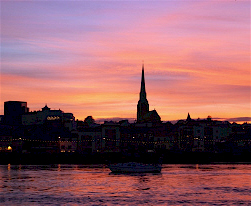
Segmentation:
{"type": "Polygon", "coordinates": [[[29,112],[27,102],[4,102],[4,123],[7,125],[21,125],[22,115],[29,112]]]}

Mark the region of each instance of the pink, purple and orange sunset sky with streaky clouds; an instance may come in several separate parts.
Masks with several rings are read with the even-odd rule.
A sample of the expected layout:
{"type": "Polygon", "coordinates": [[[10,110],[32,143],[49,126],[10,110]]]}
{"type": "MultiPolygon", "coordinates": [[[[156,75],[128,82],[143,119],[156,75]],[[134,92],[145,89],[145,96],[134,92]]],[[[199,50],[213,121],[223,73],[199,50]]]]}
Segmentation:
{"type": "Polygon", "coordinates": [[[136,119],[142,61],[163,121],[251,122],[249,0],[1,1],[0,114],[136,119]]]}

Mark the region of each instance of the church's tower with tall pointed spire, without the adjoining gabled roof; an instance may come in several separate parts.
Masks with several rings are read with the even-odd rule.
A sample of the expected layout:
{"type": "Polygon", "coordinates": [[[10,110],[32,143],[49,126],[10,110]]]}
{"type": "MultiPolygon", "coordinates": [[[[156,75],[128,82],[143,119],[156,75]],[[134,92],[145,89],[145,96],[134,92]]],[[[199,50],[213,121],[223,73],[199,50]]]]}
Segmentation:
{"type": "Polygon", "coordinates": [[[144,116],[149,112],[149,104],[146,99],[144,64],[142,65],[141,88],[137,106],[137,122],[144,122],[144,116]]]}

